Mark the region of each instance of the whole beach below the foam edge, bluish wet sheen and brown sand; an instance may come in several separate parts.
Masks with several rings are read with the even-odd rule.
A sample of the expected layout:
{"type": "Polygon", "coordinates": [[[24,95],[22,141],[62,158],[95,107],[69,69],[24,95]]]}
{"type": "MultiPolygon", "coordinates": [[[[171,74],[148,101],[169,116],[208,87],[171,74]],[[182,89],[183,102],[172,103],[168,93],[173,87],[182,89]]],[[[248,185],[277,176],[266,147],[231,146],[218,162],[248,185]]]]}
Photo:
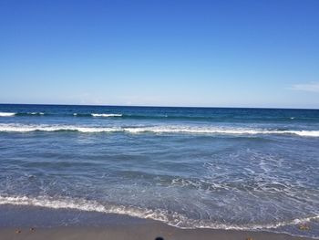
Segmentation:
{"type": "Polygon", "coordinates": [[[0,216],[1,240],[147,240],[156,237],[162,237],[164,240],[318,239],[318,237],[297,236],[264,230],[183,229],[160,221],[141,219],[125,214],[101,214],[72,209],[50,209],[11,204],[0,205],[0,216]]]}

